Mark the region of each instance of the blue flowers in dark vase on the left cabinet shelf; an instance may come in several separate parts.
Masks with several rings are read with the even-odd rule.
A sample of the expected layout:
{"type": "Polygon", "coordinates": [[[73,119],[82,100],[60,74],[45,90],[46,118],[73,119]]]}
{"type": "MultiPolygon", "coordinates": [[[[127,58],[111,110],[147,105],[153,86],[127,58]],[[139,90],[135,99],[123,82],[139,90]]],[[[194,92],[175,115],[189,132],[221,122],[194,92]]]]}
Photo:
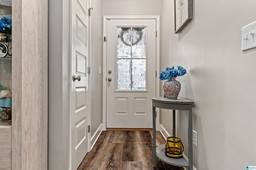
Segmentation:
{"type": "Polygon", "coordinates": [[[4,43],[8,43],[12,41],[11,35],[12,35],[12,18],[6,18],[3,17],[0,20],[0,33],[1,40],[4,43]]]}

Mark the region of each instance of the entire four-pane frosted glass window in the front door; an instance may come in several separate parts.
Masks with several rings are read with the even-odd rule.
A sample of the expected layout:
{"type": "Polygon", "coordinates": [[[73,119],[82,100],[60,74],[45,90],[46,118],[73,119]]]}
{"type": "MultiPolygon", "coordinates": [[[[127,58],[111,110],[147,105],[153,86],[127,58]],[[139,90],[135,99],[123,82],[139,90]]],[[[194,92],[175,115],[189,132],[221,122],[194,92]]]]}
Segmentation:
{"type": "Polygon", "coordinates": [[[146,27],[117,27],[116,90],[146,90],[146,27]]]}

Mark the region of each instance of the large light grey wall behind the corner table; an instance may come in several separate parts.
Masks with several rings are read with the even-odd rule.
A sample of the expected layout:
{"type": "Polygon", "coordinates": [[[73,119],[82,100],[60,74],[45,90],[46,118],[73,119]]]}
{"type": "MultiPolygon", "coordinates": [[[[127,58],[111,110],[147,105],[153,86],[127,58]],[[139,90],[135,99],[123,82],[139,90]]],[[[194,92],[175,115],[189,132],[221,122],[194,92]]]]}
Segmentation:
{"type": "MultiPolygon", "coordinates": [[[[195,102],[197,170],[256,165],[256,49],[241,51],[241,28],[256,20],[255,6],[255,0],[193,1],[193,20],[174,34],[174,2],[162,0],[161,69],[188,70],[177,80],[179,96],[195,102]]],[[[178,137],[187,143],[185,111],[179,112],[178,137]]]]}

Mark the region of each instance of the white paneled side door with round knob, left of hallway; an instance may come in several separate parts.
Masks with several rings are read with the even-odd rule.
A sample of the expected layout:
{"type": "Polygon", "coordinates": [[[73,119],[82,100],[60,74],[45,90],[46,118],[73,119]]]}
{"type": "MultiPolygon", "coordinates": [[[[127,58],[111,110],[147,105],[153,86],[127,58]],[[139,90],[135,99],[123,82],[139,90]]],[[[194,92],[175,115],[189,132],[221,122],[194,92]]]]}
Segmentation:
{"type": "MultiPolygon", "coordinates": [[[[89,144],[89,0],[70,0],[71,94],[70,170],[76,170],[89,144]]],[[[67,35],[68,36],[68,35],[67,35]]]]}

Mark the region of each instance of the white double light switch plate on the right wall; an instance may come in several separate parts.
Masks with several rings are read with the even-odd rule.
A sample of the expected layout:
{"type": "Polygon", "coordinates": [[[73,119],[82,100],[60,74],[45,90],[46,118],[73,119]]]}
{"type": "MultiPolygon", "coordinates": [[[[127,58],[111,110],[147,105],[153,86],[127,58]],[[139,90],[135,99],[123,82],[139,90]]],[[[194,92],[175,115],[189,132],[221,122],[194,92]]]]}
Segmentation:
{"type": "Polygon", "coordinates": [[[256,21],[242,27],[242,51],[256,47],[256,21]]]}

